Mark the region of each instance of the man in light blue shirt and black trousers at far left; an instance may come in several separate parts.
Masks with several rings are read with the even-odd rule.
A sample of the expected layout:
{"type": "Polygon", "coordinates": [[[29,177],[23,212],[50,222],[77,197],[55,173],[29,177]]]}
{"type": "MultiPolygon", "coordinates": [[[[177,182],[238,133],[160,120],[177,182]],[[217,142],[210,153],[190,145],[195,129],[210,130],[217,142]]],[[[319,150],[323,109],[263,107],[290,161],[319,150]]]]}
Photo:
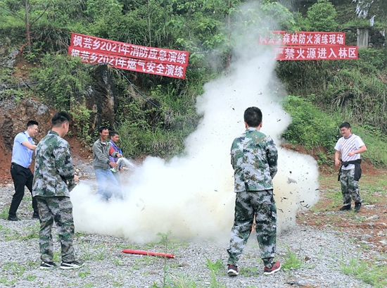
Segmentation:
{"type": "MultiPolygon", "coordinates": [[[[15,187],[15,194],[13,194],[11,206],[9,207],[8,212],[8,220],[10,221],[20,220],[16,216],[16,211],[18,211],[20,202],[23,199],[24,187],[27,187],[32,195],[32,180],[34,179],[34,175],[28,166],[30,166],[32,162],[32,154],[37,148],[32,138],[34,138],[38,132],[38,125],[37,121],[28,121],[27,130],[17,134],[13,140],[11,176],[15,187]]],[[[33,197],[32,208],[34,209],[32,218],[39,219],[37,201],[33,197]]]]}

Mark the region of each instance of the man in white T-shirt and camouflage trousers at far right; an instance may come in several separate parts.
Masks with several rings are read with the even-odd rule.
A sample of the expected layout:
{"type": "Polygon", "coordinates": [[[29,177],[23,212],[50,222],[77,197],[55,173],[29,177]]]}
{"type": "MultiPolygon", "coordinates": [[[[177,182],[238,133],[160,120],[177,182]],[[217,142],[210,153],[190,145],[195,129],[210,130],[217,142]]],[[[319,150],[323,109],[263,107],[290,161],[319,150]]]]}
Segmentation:
{"type": "Polygon", "coordinates": [[[355,212],[358,212],[362,207],[359,192],[359,180],[362,177],[360,154],[367,151],[367,147],[359,136],[352,134],[350,123],[342,123],[340,132],[343,137],[338,139],[335,146],[335,165],[338,166],[341,163],[338,180],[340,180],[341,194],[343,194],[343,207],[340,210],[350,211],[353,200],[355,201],[355,212]],[[340,155],[341,161],[339,160],[340,155]]]}

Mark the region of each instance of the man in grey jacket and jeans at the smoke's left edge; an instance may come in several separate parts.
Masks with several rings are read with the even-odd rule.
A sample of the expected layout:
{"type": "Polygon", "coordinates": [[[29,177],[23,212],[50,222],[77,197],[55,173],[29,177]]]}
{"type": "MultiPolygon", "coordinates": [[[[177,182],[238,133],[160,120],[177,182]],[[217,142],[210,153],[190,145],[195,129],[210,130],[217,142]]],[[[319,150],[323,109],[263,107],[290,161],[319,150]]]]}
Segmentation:
{"type": "MultiPolygon", "coordinates": [[[[117,163],[111,162],[110,142],[108,141],[109,130],[108,127],[103,126],[98,130],[99,139],[93,145],[93,166],[96,173],[96,180],[98,182],[97,194],[101,199],[108,201],[114,192],[118,189],[117,180],[110,170],[111,167],[118,168],[117,163]]],[[[122,157],[122,154],[114,151],[112,157],[122,157]]]]}

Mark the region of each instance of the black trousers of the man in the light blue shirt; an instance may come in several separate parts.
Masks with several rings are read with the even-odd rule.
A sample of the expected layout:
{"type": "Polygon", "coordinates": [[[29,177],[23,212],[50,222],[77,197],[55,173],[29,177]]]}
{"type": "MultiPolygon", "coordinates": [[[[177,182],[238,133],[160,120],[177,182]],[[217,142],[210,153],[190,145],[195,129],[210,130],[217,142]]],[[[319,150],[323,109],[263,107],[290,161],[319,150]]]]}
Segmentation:
{"type": "MultiPolygon", "coordinates": [[[[15,194],[13,194],[11,207],[9,208],[9,216],[15,217],[16,211],[18,211],[20,202],[24,196],[24,187],[26,186],[30,190],[32,195],[32,180],[34,180],[34,175],[32,174],[30,168],[24,168],[18,164],[11,164],[11,176],[13,179],[13,185],[15,186],[15,194]]],[[[37,200],[32,197],[32,208],[34,209],[34,214],[39,215],[39,210],[37,208],[37,200]]]]}

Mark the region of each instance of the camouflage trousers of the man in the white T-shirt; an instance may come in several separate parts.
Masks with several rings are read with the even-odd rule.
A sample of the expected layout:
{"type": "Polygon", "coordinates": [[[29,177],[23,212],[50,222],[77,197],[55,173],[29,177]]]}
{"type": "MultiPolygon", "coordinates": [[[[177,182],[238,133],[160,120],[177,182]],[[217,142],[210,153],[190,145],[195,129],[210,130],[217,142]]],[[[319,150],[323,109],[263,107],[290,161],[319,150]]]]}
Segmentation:
{"type": "Polygon", "coordinates": [[[352,199],[355,203],[362,202],[359,193],[359,182],[355,181],[354,175],[355,169],[341,170],[340,173],[341,193],[343,194],[344,206],[350,205],[352,199]]]}

